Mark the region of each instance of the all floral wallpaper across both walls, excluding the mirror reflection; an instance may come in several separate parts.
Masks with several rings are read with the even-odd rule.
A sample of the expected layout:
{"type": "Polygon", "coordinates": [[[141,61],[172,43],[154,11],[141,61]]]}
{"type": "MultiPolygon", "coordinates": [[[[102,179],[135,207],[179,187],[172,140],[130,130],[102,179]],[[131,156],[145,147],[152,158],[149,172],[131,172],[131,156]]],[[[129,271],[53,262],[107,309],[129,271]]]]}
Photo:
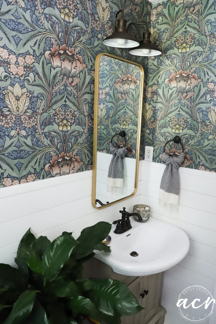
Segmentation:
{"type": "MultiPolygon", "coordinates": [[[[160,162],[165,142],[180,135],[184,166],[215,171],[215,5],[0,0],[0,187],[92,168],[94,64],[101,52],[145,69],[141,158],[153,145],[160,162]],[[103,46],[121,8],[129,22],[148,23],[162,55],[146,59],[103,46]]],[[[142,30],[130,27],[140,38],[142,30]]]]}

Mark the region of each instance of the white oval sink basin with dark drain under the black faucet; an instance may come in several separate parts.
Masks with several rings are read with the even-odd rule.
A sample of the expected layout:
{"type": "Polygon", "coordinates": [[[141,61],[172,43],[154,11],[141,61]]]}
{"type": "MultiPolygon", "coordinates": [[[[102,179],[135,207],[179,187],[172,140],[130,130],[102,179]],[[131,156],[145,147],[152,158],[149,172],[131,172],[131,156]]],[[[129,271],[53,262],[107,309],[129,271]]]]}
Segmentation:
{"type": "Polygon", "coordinates": [[[108,264],[114,272],[128,276],[146,276],[163,272],[180,262],[188,253],[189,239],[180,228],[150,217],[139,223],[131,217],[132,228],[109,235],[111,253],[95,251],[95,258],[108,264]],[[131,252],[138,256],[131,256],[131,252]]]}

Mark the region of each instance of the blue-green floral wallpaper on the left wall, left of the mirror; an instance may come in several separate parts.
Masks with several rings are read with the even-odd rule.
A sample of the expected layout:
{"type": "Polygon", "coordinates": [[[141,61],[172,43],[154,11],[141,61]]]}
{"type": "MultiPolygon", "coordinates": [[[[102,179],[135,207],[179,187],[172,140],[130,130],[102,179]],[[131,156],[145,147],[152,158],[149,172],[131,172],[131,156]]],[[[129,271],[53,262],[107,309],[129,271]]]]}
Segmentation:
{"type": "Polygon", "coordinates": [[[0,187],[92,168],[95,58],[127,56],[102,44],[122,7],[146,20],[141,0],[0,0],[0,187]]]}

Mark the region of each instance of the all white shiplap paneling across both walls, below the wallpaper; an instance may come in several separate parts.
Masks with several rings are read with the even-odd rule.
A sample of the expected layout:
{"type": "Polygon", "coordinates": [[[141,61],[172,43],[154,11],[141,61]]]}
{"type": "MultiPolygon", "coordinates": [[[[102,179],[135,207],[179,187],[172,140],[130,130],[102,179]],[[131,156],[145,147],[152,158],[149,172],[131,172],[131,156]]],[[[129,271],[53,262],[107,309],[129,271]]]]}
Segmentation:
{"type": "MultiPolygon", "coordinates": [[[[186,258],[164,273],[161,299],[165,323],[185,323],[175,305],[184,288],[202,285],[216,298],[216,173],[180,168],[179,210],[170,213],[158,205],[163,170],[162,164],[140,161],[136,195],[101,211],[91,205],[92,171],[0,189],[0,262],[15,265],[18,242],[29,227],[51,240],[65,230],[77,237],[86,226],[118,218],[123,206],[132,211],[134,204],[146,203],[152,217],[182,228],[190,239],[186,258]]],[[[215,314],[216,309],[209,324],[216,323],[215,314]]]]}

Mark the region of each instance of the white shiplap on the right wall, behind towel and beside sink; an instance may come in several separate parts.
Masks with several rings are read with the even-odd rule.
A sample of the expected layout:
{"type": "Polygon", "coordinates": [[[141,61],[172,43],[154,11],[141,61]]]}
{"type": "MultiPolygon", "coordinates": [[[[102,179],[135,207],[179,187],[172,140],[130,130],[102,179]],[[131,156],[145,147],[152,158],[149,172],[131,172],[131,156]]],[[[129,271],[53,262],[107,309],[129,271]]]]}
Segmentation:
{"type": "MultiPolygon", "coordinates": [[[[216,173],[180,168],[178,212],[170,212],[158,204],[164,168],[163,164],[143,161],[141,201],[151,206],[152,217],[180,227],[190,239],[188,255],[165,271],[162,287],[161,305],[167,311],[165,324],[180,324],[187,322],[180,317],[176,307],[183,289],[201,285],[212,295],[215,290],[216,173]]],[[[216,305],[214,308],[210,320],[205,323],[216,324],[216,305]]]]}

